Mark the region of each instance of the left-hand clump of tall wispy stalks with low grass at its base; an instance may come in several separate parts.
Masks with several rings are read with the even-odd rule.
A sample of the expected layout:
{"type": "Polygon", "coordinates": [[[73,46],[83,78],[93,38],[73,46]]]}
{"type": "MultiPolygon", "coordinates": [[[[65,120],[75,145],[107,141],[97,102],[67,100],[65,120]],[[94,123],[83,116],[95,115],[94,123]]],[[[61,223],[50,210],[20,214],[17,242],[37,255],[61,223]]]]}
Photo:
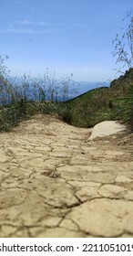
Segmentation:
{"type": "Polygon", "coordinates": [[[68,100],[74,91],[72,75],[57,81],[55,73],[46,69],[43,78],[24,74],[8,80],[5,59],[0,57],[0,131],[10,131],[36,113],[57,114],[69,122],[70,107],[62,101],[68,100]]]}

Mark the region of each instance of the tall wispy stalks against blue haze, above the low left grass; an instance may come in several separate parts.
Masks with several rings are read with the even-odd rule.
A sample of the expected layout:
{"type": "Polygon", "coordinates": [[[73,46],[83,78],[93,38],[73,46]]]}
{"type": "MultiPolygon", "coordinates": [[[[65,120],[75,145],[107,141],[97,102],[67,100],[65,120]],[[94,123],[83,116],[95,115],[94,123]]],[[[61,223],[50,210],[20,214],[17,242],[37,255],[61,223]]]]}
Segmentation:
{"type": "MultiPolygon", "coordinates": [[[[1,63],[3,65],[3,63],[1,63]]],[[[1,65],[0,64],[0,65],[1,65]]],[[[48,69],[44,77],[31,78],[24,74],[21,78],[10,80],[0,76],[0,104],[8,105],[22,99],[25,101],[67,101],[76,93],[76,83],[73,76],[56,80],[55,74],[48,69]]]]}

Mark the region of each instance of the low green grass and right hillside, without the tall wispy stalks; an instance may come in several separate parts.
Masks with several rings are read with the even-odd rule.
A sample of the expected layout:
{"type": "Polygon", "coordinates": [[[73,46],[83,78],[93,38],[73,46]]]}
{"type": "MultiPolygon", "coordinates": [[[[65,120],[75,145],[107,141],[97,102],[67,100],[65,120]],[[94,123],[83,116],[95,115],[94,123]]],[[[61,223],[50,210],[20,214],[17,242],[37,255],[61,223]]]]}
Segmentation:
{"type": "Polygon", "coordinates": [[[0,131],[10,131],[36,113],[57,114],[77,127],[92,127],[107,120],[129,123],[133,131],[133,69],[101,87],[66,102],[28,101],[22,97],[15,103],[0,106],[0,131]]]}

